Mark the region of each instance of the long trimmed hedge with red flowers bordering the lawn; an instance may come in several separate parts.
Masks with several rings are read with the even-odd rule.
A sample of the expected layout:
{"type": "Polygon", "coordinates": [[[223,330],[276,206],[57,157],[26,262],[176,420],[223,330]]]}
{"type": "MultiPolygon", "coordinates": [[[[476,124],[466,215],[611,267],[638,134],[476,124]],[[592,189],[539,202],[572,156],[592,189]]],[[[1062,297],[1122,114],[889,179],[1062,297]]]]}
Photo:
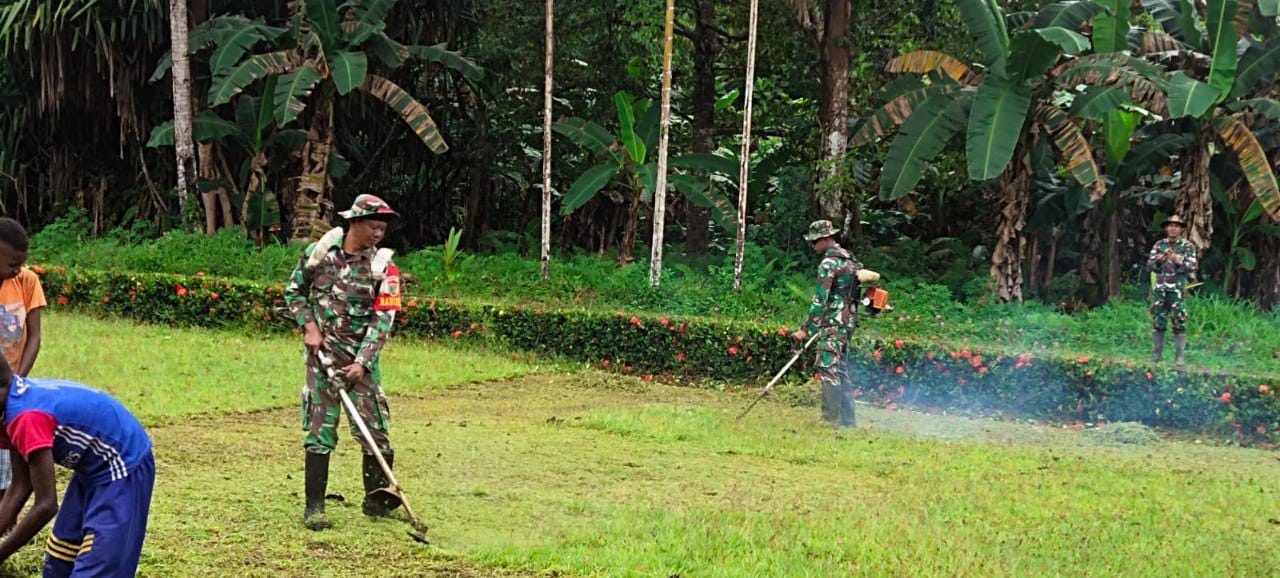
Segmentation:
{"type": "MultiPolygon", "coordinates": [[[[296,331],[282,315],[283,286],[205,275],[129,274],[32,267],[59,308],[137,321],[253,331],[296,331]]],[[[865,318],[863,324],[877,324],[865,318]]],[[[500,343],[634,373],[645,380],[765,380],[792,355],[786,327],[626,312],[550,311],[408,297],[397,334],[500,343]]],[[[810,371],[812,355],[792,370],[810,371]]],[[[996,350],[948,350],[940,343],[883,343],[858,335],[851,348],[855,395],[887,408],[983,412],[1085,423],[1151,426],[1280,437],[1276,377],[1178,373],[1105,359],[1048,358],[996,350]]]]}

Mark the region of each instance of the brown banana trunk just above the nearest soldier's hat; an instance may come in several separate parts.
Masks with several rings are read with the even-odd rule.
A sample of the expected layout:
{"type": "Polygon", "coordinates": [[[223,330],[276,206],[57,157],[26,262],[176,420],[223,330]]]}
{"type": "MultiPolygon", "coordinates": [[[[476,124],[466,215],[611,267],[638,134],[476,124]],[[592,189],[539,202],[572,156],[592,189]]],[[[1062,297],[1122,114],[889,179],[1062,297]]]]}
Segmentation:
{"type": "Polygon", "coordinates": [[[328,90],[315,101],[311,129],[302,146],[302,175],[293,199],[291,240],[319,239],[329,229],[329,156],[333,150],[333,98],[328,90]]]}

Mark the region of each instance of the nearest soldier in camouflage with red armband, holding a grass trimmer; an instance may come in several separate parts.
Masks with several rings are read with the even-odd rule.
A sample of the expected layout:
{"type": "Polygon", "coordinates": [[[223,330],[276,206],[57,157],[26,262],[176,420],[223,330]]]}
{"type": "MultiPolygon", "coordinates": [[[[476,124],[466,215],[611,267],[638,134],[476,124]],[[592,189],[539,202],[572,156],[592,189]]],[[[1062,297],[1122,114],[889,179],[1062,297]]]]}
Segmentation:
{"type": "Polygon", "coordinates": [[[335,228],[307,247],[289,277],[285,302],[302,327],[306,345],[306,386],[302,390],[302,426],[307,432],[306,509],[307,528],[324,529],[332,523],[324,517],[325,487],[329,482],[329,454],[338,445],[338,418],[342,398],[337,387],[351,394],[361,418],[372,434],[370,448],[352,426],[352,436],[364,450],[366,515],[387,515],[399,501],[387,494],[371,494],[388,481],[374,451],[393,462],[387,431],[390,412],[383,395],[379,354],[399,311],[399,271],[390,262],[390,249],[378,249],[387,228],[399,215],[371,194],[356,197],[349,211],[339,214],[347,223],[346,234],[335,228]],[[321,354],[332,359],[321,362],[321,354]],[[330,377],[330,373],[332,377],[330,377]]]}

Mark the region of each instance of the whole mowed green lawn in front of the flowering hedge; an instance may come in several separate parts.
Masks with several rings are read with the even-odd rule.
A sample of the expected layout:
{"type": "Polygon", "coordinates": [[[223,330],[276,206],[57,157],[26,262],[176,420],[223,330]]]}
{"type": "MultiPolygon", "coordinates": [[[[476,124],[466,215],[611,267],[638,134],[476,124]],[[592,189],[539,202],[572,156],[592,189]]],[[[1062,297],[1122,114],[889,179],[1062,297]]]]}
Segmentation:
{"type": "MultiPolygon", "coordinates": [[[[297,339],[50,315],[36,373],[151,426],[140,575],[1277,575],[1275,454],[1112,445],[1051,427],[815,408],[448,344],[387,353],[397,474],[431,526],[360,514],[347,430],[337,528],[301,526],[297,339]]],[[[42,543],[44,536],[40,541],[42,543]]],[[[4,566],[37,573],[28,546],[4,566]]]]}

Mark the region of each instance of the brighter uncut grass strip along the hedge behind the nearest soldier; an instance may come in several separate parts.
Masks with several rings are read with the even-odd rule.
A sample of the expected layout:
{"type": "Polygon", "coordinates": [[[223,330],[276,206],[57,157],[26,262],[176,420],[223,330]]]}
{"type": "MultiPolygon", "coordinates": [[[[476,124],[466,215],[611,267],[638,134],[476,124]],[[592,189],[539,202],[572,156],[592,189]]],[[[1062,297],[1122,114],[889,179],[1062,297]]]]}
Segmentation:
{"type": "MultiPolygon", "coordinates": [[[[392,339],[383,352],[389,395],[539,371],[511,355],[392,339]]],[[[110,391],[145,423],[293,407],[302,390],[302,338],[178,330],[58,311],[44,315],[33,377],[110,391]]]]}

